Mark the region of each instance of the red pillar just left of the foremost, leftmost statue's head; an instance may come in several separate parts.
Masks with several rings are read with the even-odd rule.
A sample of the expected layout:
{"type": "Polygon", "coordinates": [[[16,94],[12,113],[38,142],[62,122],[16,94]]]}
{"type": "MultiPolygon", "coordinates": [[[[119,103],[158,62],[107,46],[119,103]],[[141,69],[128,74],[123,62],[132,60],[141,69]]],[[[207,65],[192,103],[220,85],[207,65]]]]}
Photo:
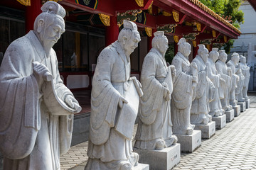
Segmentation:
{"type": "Polygon", "coordinates": [[[31,1],[31,6],[26,6],[26,33],[33,30],[33,23],[41,11],[41,0],[31,1]]]}

